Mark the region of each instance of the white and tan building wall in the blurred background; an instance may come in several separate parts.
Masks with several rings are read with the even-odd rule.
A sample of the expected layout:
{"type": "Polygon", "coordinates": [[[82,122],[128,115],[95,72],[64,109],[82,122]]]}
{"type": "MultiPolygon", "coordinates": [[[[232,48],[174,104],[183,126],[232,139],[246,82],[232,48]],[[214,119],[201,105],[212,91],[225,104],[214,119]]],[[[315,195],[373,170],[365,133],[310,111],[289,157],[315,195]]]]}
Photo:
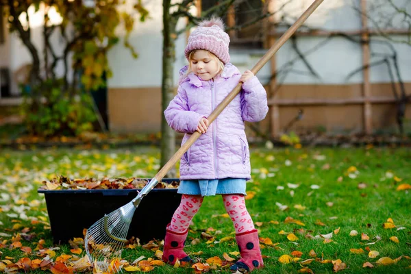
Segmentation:
{"type": "MultiPolygon", "coordinates": [[[[277,6],[288,0],[276,0],[277,6]]],[[[289,1],[286,14],[293,23],[312,1],[289,1]],[[298,3],[297,3],[298,2],[298,3]],[[292,17],[294,16],[294,17],[292,17]]],[[[325,1],[319,10],[308,19],[310,27],[320,27],[331,31],[353,31],[361,28],[358,16],[360,1],[325,1]]],[[[160,131],[160,86],[161,86],[161,45],[162,45],[162,9],[161,1],[150,1],[147,8],[151,19],[136,26],[131,42],[135,45],[140,57],[131,60],[121,46],[110,52],[110,65],[114,77],[109,80],[110,129],[114,132],[158,132],[160,131]],[[147,47],[147,45],[150,45],[147,47]]],[[[279,14],[282,16],[284,14],[279,14]]],[[[184,22],[180,22],[184,25],[184,22]]],[[[277,29],[285,31],[285,29],[277,29]]],[[[359,40],[358,36],[353,37],[359,40]]],[[[394,40],[397,37],[392,37],[394,40]]],[[[380,39],[381,40],[381,39],[380,39]]],[[[177,86],[178,71],[186,64],[184,47],[186,36],[177,40],[174,82],[177,86]]],[[[297,52],[288,41],[275,55],[277,68],[277,89],[279,99],[349,99],[362,97],[362,72],[350,73],[362,66],[362,49],[360,42],[346,38],[302,36],[297,38],[297,47],[306,56],[314,69],[315,77],[299,59],[297,52]]],[[[399,72],[406,90],[411,94],[411,46],[393,43],[399,59],[399,72]]],[[[236,50],[230,48],[232,63],[240,71],[251,69],[260,60],[266,50],[236,50]]],[[[382,42],[371,42],[371,62],[381,60],[376,54],[393,52],[382,42]]],[[[260,81],[267,85],[271,77],[270,62],[258,73],[260,81]]],[[[372,96],[393,97],[390,90],[388,68],[384,65],[371,66],[372,96]]],[[[395,81],[398,79],[395,78],[395,81]]],[[[268,90],[268,88],[267,88],[268,90]]],[[[284,129],[297,115],[299,109],[304,112],[303,119],[295,123],[290,130],[323,130],[334,133],[361,132],[363,129],[362,105],[282,105],[279,108],[280,128],[284,129]]],[[[373,105],[373,127],[375,132],[395,130],[395,105],[392,103],[373,105]]],[[[407,119],[411,119],[410,110],[407,119]]],[[[262,130],[269,131],[267,116],[262,123],[262,130]]],[[[411,127],[411,125],[410,125],[411,127]]]]}

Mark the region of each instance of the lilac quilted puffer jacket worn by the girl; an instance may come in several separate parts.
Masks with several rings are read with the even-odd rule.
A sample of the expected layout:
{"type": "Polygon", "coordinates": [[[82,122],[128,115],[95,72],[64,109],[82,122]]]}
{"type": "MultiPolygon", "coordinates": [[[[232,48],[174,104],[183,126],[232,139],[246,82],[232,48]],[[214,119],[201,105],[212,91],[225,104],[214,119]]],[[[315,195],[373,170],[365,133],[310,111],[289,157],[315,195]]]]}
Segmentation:
{"type": "MultiPolygon", "coordinates": [[[[203,81],[193,73],[180,71],[177,95],[164,111],[166,121],[177,132],[185,133],[182,144],[195,132],[202,117],[208,117],[238,84],[240,71],[226,64],[221,75],[203,81]]],[[[249,146],[244,121],[264,119],[269,107],[266,91],[254,76],[208,127],[206,134],[181,159],[180,179],[251,178],[249,146]]]]}

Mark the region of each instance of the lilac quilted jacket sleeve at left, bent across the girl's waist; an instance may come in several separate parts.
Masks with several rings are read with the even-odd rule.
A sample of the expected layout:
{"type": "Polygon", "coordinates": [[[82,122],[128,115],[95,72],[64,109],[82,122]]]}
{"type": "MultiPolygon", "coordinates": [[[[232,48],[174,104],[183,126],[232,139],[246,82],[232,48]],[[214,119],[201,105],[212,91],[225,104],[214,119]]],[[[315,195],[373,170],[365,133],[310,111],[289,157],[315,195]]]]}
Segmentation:
{"type": "Polygon", "coordinates": [[[188,134],[195,132],[200,119],[204,117],[204,115],[190,111],[186,91],[181,86],[178,88],[177,95],[164,110],[164,116],[172,129],[188,134]]]}

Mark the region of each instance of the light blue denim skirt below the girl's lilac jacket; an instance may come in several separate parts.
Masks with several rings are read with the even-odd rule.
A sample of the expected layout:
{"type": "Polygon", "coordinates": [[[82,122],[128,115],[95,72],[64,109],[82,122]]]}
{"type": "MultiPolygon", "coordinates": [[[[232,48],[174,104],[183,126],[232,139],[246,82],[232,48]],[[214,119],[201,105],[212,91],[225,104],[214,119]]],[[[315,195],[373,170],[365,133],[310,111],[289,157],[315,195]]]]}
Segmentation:
{"type": "Polygon", "coordinates": [[[188,195],[214,196],[216,194],[242,194],[245,192],[245,179],[192,179],[182,180],[177,193],[188,195]]]}

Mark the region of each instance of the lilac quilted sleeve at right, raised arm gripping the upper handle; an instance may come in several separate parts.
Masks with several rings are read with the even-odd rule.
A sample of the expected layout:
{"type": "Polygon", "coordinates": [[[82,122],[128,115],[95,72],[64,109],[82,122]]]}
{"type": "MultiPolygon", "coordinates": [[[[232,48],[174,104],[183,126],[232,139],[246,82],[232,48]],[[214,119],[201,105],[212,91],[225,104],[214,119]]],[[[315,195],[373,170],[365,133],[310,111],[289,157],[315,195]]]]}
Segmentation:
{"type": "Polygon", "coordinates": [[[247,122],[258,122],[269,112],[267,95],[264,86],[256,76],[242,84],[241,113],[242,119],[247,122]]]}

